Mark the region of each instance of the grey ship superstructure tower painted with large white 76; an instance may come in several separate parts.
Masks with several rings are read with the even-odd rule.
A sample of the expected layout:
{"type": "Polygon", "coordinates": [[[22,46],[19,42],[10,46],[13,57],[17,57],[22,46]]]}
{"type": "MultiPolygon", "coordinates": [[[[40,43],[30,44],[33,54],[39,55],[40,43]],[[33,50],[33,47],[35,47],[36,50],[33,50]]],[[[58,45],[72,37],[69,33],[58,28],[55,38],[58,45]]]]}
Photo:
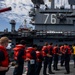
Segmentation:
{"type": "Polygon", "coordinates": [[[43,44],[53,42],[54,44],[73,44],[75,42],[75,11],[73,5],[75,0],[68,0],[69,9],[64,6],[54,8],[54,0],[51,1],[51,8],[40,9],[40,4],[34,3],[35,8],[31,9],[31,23],[35,25],[37,38],[34,42],[43,44]]]}

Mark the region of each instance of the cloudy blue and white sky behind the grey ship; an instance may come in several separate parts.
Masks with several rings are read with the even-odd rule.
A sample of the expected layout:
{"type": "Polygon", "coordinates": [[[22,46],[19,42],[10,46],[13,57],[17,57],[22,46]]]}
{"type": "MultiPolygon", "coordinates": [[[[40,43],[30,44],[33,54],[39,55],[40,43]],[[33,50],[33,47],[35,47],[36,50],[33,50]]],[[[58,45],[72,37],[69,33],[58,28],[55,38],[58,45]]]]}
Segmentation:
{"type": "MultiPolygon", "coordinates": [[[[50,7],[49,0],[44,1],[50,7]]],[[[64,5],[65,8],[70,7],[67,0],[55,0],[55,6],[60,7],[61,5],[64,5]]],[[[0,0],[0,9],[12,8],[11,11],[0,13],[0,31],[4,31],[6,28],[8,28],[8,31],[11,31],[10,21],[12,19],[16,21],[16,30],[23,24],[25,19],[27,20],[27,26],[31,27],[28,12],[33,6],[31,0],[0,0]]]]}

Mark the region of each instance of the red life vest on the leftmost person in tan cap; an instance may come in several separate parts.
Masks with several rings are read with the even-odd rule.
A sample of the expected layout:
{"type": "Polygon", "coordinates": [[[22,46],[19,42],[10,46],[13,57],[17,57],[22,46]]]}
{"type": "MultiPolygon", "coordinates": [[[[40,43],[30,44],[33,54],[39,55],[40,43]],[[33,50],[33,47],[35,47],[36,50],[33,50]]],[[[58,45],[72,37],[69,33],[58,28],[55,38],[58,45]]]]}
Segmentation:
{"type": "Polygon", "coordinates": [[[8,53],[5,49],[5,47],[0,46],[0,51],[2,51],[4,53],[4,56],[5,56],[5,59],[2,62],[0,62],[0,65],[3,66],[3,67],[8,67],[8,65],[9,65],[9,56],[8,56],[8,53]]]}

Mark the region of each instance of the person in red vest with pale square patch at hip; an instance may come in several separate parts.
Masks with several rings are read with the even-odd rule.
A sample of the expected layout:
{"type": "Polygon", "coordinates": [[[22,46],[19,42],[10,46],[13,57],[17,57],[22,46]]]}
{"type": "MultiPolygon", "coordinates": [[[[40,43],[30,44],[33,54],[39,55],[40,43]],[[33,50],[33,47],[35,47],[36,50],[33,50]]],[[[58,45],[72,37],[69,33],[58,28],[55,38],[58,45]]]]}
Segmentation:
{"type": "Polygon", "coordinates": [[[26,50],[26,60],[28,61],[27,75],[36,75],[36,50],[36,44],[32,45],[32,47],[28,47],[26,50]]]}

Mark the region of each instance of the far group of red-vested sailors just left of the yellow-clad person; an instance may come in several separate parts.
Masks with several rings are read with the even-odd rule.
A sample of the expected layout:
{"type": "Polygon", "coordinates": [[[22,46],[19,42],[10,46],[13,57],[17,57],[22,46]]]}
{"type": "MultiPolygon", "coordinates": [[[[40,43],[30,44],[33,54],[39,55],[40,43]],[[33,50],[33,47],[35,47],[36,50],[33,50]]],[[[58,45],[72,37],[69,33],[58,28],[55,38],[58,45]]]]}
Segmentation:
{"type": "Polygon", "coordinates": [[[65,74],[70,73],[69,62],[70,62],[71,48],[69,45],[65,44],[64,46],[60,46],[59,49],[58,45],[55,45],[53,47],[52,43],[50,43],[50,45],[48,45],[48,43],[45,43],[42,50],[44,54],[43,75],[47,75],[46,74],[47,66],[48,66],[48,73],[55,74],[54,72],[52,72],[51,67],[53,59],[54,59],[53,69],[56,71],[59,70],[58,69],[59,56],[61,56],[61,66],[63,66],[63,63],[65,62],[65,69],[66,69],[65,74]]]}

